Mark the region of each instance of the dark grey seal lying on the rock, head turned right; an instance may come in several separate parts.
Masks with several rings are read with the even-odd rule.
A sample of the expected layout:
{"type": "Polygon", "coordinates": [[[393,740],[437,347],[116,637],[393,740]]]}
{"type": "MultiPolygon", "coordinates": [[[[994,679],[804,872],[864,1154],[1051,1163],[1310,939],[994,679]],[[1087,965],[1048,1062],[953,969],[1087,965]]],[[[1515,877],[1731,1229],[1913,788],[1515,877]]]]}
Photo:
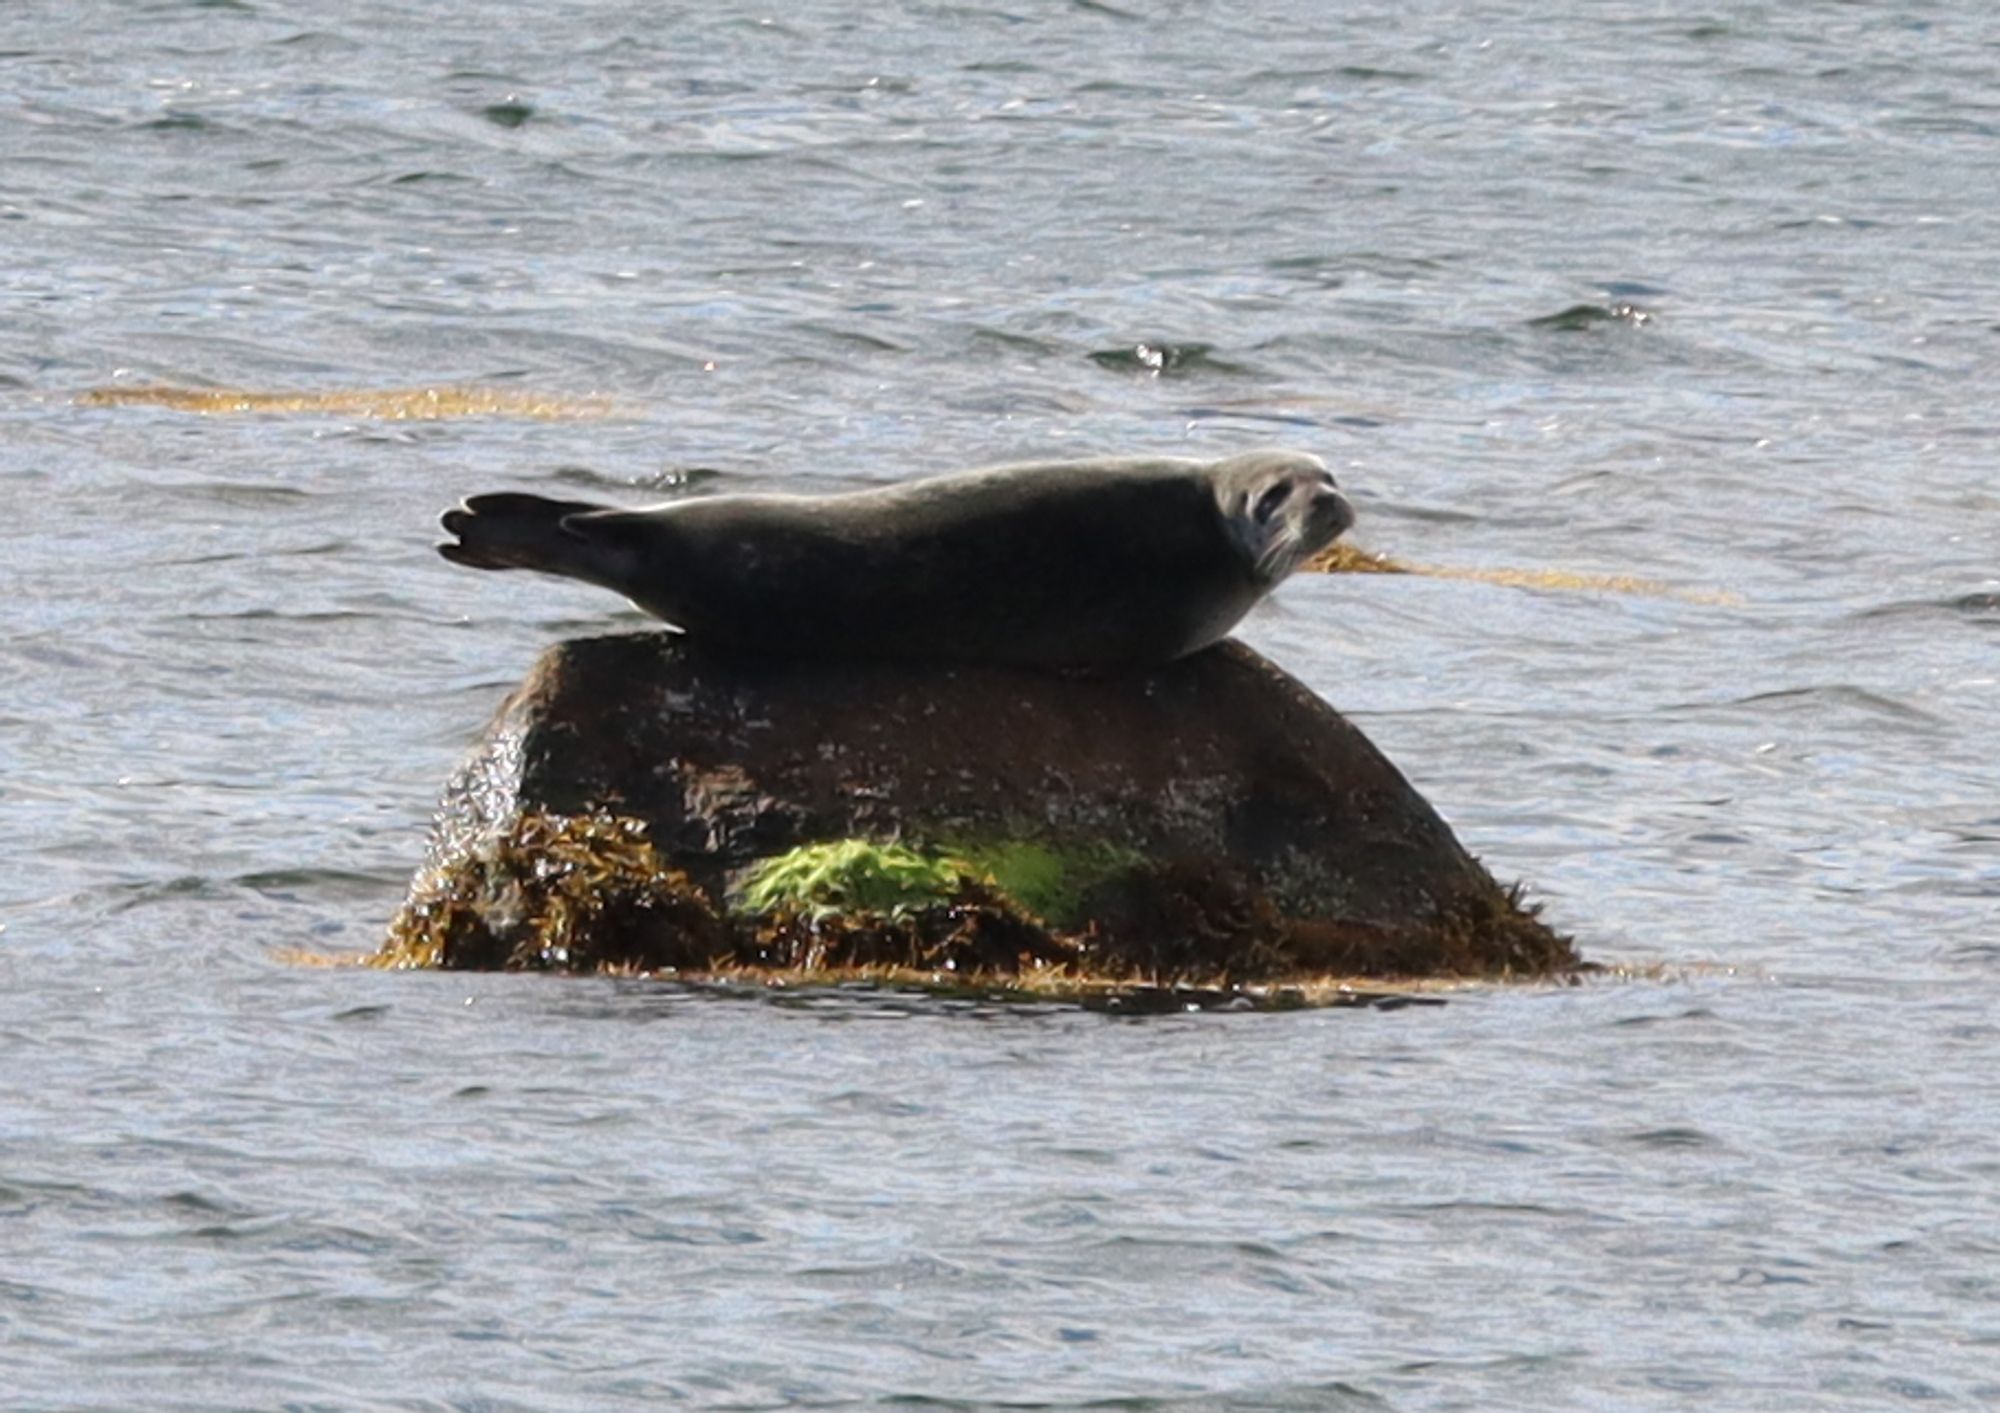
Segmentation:
{"type": "Polygon", "coordinates": [[[756,654],[1108,666],[1216,642],[1352,522],[1318,456],[1260,450],[638,510],[502,492],[446,510],[438,552],[602,584],[756,654]]]}

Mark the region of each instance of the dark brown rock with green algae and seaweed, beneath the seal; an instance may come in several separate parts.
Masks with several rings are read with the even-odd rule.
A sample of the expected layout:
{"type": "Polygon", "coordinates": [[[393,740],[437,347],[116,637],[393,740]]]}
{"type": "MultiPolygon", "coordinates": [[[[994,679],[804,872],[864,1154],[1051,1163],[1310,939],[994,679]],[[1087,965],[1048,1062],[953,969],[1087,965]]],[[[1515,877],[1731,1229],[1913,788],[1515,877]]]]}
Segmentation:
{"type": "Polygon", "coordinates": [[[666,632],[542,656],[448,787],[384,959],[1202,985],[1580,965],[1240,642],[1086,676],[742,660],[666,632]],[[908,849],[812,853],[840,841],[908,849]],[[856,867],[916,891],[856,915],[856,867]]]}

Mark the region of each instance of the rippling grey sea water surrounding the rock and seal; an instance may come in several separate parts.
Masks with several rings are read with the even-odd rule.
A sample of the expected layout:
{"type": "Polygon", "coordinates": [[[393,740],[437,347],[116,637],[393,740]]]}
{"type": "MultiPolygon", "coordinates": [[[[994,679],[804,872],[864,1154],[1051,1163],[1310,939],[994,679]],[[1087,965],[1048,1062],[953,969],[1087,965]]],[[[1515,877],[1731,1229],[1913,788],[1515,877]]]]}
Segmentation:
{"type": "Polygon", "coordinates": [[[2000,1403],[2000,10],[0,6],[0,1405],[2000,1403]],[[598,416],[104,404],[478,386],[598,416]],[[1242,634],[1620,977],[382,975],[496,488],[1296,444],[1242,634]]]}

